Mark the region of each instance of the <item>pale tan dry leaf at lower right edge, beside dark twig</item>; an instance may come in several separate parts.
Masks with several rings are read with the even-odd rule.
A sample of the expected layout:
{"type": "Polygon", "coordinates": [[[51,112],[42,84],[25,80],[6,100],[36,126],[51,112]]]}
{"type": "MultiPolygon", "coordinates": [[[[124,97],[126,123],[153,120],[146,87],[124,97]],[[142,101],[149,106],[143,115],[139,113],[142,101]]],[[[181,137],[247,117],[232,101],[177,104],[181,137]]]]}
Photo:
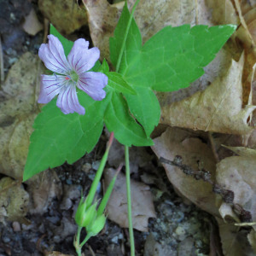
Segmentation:
{"type": "MultiPolygon", "coordinates": [[[[223,189],[234,192],[233,204],[221,207],[223,218],[233,211],[241,222],[256,221],[256,150],[232,148],[241,156],[231,156],[217,165],[216,181],[223,189]],[[254,151],[254,152],[253,152],[254,151]],[[253,153],[252,153],[253,152],[253,153]],[[230,207],[229,210],[227,210],[230,207]]],[[[224,204],[224,203],[222,203],[224,204]]]]}

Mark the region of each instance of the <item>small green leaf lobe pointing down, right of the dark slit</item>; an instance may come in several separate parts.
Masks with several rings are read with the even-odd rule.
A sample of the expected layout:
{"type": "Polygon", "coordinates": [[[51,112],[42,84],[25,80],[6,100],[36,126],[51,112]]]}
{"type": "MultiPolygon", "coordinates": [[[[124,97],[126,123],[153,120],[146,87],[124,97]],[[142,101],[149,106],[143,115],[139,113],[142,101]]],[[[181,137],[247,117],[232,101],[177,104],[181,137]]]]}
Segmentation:
{"type": "Polygon", "coordinates": [[[137,87],[137,95],[125,94],[129,109],[149,137],[160,120],[160,104],[150,88],[137,87]]]}

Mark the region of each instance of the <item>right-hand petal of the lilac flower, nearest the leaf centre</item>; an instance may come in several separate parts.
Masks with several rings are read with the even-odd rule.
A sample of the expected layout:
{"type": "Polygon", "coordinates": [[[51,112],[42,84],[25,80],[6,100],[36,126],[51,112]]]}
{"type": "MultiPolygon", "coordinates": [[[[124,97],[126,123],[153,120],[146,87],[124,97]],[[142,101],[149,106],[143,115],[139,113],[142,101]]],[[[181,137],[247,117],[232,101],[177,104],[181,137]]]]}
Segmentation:
{"type": "Polygon", "coordinates": [[[95,101],[102,101],[106,96],[103,88],[108,84],[108,77],[103,73],[86,72],[79,76],[78,88],[84,90],[95,101]]]}

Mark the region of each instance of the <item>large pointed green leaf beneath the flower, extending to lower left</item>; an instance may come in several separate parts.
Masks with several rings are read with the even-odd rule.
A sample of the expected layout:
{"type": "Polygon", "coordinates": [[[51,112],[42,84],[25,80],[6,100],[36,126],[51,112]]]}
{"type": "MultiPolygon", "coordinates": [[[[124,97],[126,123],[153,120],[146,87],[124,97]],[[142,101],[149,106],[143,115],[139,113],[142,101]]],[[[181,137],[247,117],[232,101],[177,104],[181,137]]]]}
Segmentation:
{"type": "Polygon", "coordinates": [[[26,160],[24,181],[38,172],[60,166],[66,160],[72,164],[90,152],[102,134],[103,115],[110,97],[96,102],[79,91],[79,102],[85,115],[64,114],[56,107],[56,99],[49,102],[35,119],[31,144],[26,160]]]}

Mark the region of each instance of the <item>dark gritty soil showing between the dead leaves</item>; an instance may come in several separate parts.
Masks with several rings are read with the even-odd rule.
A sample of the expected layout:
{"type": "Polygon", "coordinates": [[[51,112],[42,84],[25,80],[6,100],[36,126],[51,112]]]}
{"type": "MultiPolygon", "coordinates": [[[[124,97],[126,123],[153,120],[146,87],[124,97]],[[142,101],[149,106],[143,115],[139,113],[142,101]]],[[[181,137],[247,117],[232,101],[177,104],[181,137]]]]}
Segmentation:
{"type": "MultiPolygon", "coordinates": [[[[43,16],[38,12],[37,1],[0,0],[0,33],[5,76],[20,55],[26,51],[37,54],[43,42],[44,32],[30,36],[21,26],[32,7],[36,9],[39,20],[43,21],[43,16]]],[[[88,28],[86,31],[89,31],[88,28]]],[[[79,37],[83,32],[84,28],[75,34],[79,37]]],[[[56,186],[62,193],[60,196],[56,193],[48,201],[43,214],[30,211],[26,218],[31,224],[0,224],[0,256],[49,255],[48,252],[51,251],[75,255],[73,236],[77,227],[74,223],[74,212],[81,190],[86,194],[90,188],[96,164],[102,158],[106,142],[107,138],[103,135],[93,152],[86,154],[72,166],[65,164],[51,171],[56,173],[56,186]]],[[[152,155],[152,167],[148,169],[148,165],[144,165],[146,167],[138,168],[132,178],[143,180],[150,186],[157,218],[149,219],[148,232],[135,230],[137,255],[208,255],[210,230],[215,226],[214,219],[194,205],[185,204],[175,193],[154,153],[150,148],[143,150],[152,155]]],[[[131,163],[133,161],[135,159],[131,158],[131,163]]],[[[26,189],[29,191],[30,188],[26,189]]],[[[98,193],[101,197],[102,189],[98,193]]],[[[90,238],[84,247],[84,254],[129,255],[128,230],[108,220],[101,234],[90,238]]]]}

